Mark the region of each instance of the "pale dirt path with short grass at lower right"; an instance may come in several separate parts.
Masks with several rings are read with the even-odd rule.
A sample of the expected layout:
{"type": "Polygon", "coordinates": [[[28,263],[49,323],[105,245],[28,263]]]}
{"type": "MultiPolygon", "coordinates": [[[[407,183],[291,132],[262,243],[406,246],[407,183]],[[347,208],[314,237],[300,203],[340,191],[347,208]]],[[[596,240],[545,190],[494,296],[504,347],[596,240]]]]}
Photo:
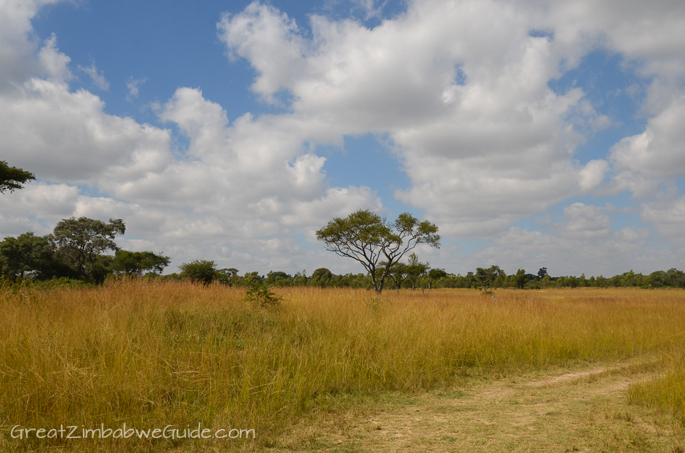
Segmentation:
{"type": "MultiPolygon", "coordinates": [[[[288,450],[329,452],[685,453],[682,427],[630,404],[627,388],[649,378],[632,362],[480,380],[464,389],[390,394],[320,421],[288,450]],[[299,443],[299,445],[297,445],[299,443]]],[[[304,427],[301,427],[304,428],[304,427]]],[[[286,445],[282,445],[286,446],[286,445]]]]}

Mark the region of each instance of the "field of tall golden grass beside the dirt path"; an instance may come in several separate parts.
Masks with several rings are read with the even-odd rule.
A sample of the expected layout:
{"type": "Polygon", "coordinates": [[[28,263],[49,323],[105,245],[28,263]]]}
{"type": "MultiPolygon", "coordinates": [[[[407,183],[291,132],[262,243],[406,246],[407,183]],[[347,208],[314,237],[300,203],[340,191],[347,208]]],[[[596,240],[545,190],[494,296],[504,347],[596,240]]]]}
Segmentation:
{"type": "MultiPolygon", "coordinates": [[[[498,290],[495,300],[475,289],[273,291],[279,305],[264,308],[245,289],[187,282],[3,289],[0,451],[366,451],[363,439],[317,444],[311,426],[373,415],[388,398],[406,406],[421,395],[606,363],[630,363],[623,373],[645,376],[616,391],[626,407],[666,417],[670,430],[685,426],[682,290],[498,290]],[[80,433],[124,423],[171,425],[181,436],[198,424],[254,435],[10,435],[17,425],[80,433]]],[[[617,419],[636,424],[634,415],[617,419]]],[[[621,448],[685,451],[677,442],[650,450],[651,442],[621,448]]]]}

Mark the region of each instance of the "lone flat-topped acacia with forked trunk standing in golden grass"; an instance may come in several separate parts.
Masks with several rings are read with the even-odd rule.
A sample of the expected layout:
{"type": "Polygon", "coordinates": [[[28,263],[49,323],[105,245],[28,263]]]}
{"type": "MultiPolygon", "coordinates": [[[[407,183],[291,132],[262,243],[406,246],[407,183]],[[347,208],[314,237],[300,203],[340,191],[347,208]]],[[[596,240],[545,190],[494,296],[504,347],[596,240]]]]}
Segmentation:
{"type": "Polygon", "coordinates": [[[359,261],[377,293],[383,291],[390,268],[409,250],[418,244],[440,248],[438,227],[407,212],[388,222],[375,212],[360,209],[346,218],[334,218],[316,231],[316,238],[326,244],[326,250],[359,261]],[[379,266],[380,261],[384,263],[379,266]]]}

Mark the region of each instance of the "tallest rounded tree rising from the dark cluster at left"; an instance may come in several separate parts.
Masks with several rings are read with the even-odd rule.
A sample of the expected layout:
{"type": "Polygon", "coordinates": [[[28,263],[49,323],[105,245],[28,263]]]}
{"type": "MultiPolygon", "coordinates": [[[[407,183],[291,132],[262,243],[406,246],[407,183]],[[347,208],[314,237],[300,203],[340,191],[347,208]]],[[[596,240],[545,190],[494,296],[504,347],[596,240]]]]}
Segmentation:
{"type": "Polygon", "coordinates": [[[58,257],[90,282],[101,261],[101,254],[107,250],[118,250],[114,237],[123,235],[125,231],[121,219],[110,219],[105,223],[87,217],[72,217],[59,222],[48,239],[55,246],[58,257]]]}

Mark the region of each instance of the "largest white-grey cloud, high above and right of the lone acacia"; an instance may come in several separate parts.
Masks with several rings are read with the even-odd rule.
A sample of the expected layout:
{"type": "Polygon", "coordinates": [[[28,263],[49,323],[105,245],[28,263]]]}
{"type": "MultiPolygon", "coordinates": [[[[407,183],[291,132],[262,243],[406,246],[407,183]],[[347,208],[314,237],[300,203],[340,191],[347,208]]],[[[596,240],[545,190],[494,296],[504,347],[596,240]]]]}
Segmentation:
{"type": "Polygon", "coordinates": [[[499,231],[601,182],[605,167],[580,168],[571,156],[584,140],[574,125],[606,118],[580,89],[551,91],[561,55],[549,38],[530,36],[513,6],[425,1],[373,29],[323,16],[311,27],[307,40],[257,2],[219,24],[229,53],[256,69],[253,90],[264,98],[288,90],[295,117],[343,135],[387,133],[412,181],[396,197],[445,231],[499,231]]]}

